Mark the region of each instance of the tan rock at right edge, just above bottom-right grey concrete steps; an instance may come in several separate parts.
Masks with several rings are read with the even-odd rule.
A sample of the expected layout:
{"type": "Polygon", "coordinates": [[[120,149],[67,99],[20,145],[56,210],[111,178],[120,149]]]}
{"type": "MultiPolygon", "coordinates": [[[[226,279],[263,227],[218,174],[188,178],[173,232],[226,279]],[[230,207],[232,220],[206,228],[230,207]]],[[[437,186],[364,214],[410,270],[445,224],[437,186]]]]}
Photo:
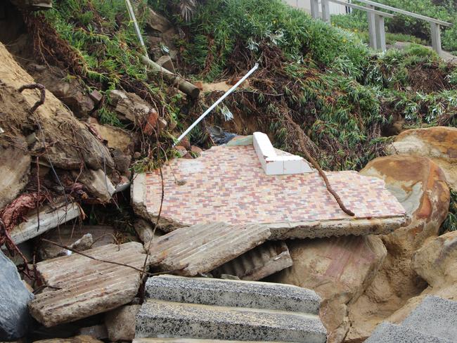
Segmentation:
{"type": "Polygon", "coordinates": [[[430,238],[413,256],[411,266],[429,286],[408,300],[388,321],[400,323],[427,295],[457,301],[457,231],[430,238]]]}

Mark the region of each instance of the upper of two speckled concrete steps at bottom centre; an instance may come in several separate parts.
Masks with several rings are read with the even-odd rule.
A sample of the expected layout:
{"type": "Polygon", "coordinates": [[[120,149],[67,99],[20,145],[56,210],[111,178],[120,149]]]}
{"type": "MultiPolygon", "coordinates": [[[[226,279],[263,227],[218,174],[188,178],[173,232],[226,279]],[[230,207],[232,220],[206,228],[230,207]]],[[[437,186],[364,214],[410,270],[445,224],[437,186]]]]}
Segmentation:
{"type": "Polygon", "coordinates": [[[279,283],[155,276],[146,298],[228,307],[318,314],[321,298],[313,290],[279,283]]]}

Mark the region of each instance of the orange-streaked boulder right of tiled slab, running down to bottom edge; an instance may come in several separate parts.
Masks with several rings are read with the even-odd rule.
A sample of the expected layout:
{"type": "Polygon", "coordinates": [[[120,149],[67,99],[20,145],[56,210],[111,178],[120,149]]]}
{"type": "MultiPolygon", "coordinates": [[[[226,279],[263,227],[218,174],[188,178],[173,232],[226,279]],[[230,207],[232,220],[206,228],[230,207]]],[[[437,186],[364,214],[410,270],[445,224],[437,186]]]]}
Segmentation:
{"type": "Polygon", "coordinates": [[[363,342],[378,323],[425,289],[426,283],[411,268],[411,259],[427,238],[437,236],[449,209],[444,173],[426,157],[380,157],[361,174],[383,179],[411,216],[411,224],[381,237],[387,258],[371,286],[349,306],[352,327],[346,342],[363,342]]]}

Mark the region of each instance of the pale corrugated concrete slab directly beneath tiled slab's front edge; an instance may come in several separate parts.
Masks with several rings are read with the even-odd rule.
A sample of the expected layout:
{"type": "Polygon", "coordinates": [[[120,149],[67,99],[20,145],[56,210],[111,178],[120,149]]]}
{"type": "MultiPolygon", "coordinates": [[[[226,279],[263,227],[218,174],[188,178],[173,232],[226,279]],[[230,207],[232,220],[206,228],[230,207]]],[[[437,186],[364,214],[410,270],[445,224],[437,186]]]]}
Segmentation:
{"type": "Polygon", "coordinates": [[[146,243],[150,264],[161,271],[195,276],[235,259],[270,237],[269,228],[255,224],[197,224],[179,228],[146,243]]]}

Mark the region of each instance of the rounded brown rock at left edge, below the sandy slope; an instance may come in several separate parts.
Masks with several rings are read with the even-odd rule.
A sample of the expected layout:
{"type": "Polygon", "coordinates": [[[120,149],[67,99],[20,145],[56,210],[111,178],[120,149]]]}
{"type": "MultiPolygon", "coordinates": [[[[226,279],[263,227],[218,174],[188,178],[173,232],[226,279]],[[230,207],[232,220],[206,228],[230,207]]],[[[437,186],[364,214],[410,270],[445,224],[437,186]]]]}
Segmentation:
{"type": "Polygon", "coordinates": [[[0,209],[13,201],[29,181],[30,156],[17,148],[0,146],[0,209]]]}

